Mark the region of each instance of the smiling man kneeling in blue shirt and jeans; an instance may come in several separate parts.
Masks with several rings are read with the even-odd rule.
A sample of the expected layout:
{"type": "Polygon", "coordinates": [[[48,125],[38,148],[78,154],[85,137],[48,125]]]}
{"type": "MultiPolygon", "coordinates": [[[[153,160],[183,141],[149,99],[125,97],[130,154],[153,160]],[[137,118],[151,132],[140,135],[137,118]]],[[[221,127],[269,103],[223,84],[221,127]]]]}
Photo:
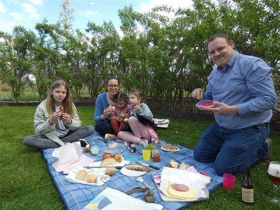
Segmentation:
{"type": "Polygon", "coordinates": [[[193,156],[197,161],[212,162],[219,175],[238,174],[244,165],[272,159],[269,121],[277,96],[272,68],[260,58],[234,51],[233,40],[223,33],[208,40],[211,60],[217,67],[211,72],[206,91],[191,93],[198,100],[214,100],[216,108],[206,109],[216,123],[201,135],[193,156]],[[264,157],[265,156],[265,157],[264,157]]]}

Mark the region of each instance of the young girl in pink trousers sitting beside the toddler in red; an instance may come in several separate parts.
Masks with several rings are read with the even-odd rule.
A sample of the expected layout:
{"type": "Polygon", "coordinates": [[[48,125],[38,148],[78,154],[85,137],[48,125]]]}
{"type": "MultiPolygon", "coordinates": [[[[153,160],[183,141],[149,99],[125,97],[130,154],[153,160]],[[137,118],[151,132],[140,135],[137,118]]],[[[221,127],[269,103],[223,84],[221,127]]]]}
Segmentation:
{"type": "Polygon", "coordinates": [[[146,144],[152,138],[158,140],[158,135],[152,126],[153,114],[147,104],[142,103],[142,93],[138,89],[129,91],[129,115],[128,124],[132,132],[120,131],[118,137],[132,143],[140,143],[140,137],[145,138],[146,144]]]}

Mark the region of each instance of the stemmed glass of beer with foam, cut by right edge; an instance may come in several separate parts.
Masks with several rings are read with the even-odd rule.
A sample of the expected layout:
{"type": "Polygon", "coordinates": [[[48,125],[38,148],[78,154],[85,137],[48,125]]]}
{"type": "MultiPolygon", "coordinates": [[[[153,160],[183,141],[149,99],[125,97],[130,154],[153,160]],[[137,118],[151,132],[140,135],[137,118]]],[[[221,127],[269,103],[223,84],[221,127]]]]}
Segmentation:
{"type": "Polygon", "coordinates": [[[280,162],[270,162],[267,175],[274,185],[274,198],[271,201],[280,205],[280,200],[278,199],[278,191],[280,188],[280,162]]]}

